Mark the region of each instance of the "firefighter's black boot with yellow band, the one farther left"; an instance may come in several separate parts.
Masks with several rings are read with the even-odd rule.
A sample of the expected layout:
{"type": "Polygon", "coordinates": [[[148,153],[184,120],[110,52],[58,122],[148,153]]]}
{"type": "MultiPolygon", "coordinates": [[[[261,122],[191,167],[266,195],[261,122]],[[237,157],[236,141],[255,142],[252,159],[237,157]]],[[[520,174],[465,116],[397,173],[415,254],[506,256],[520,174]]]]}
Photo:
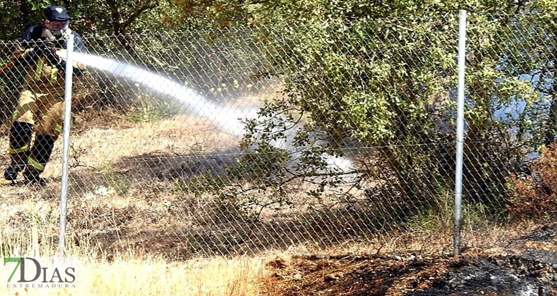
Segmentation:
{"type": "Polygon", "coordinates": [[[30,151],[32,127],[27,122],[14,121],[9,130],[8,152],[12,161],[4,171],[4,179],[8,181],[16,180],[18,172],[22,171],[26,165],[30,151]]]}

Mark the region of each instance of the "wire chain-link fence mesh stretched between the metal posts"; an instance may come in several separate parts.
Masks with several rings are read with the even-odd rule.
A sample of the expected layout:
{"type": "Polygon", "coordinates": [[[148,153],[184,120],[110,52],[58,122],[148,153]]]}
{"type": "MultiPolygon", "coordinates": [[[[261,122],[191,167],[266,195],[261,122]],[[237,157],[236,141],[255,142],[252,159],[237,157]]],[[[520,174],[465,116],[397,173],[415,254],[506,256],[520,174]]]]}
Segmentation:
{"type": "MultiPolygon", "coordinates": [[[[464,215],[488,224],[509,219],[515,180],[554,140],[557,29],[468,19],[464,215]]],[[[81,38],[70,244],[183,259],[450,227],[458,14],[81,38]]],[[[18,43],[0,47],[8,64],[18,43]]],[[[23,61],[2,73],[2,170],[37,69],[23,61]]],[[[61,140],[52,150],[46,185],[0,188],[4,235],[36,225],[56,241],[61,140]]]]}

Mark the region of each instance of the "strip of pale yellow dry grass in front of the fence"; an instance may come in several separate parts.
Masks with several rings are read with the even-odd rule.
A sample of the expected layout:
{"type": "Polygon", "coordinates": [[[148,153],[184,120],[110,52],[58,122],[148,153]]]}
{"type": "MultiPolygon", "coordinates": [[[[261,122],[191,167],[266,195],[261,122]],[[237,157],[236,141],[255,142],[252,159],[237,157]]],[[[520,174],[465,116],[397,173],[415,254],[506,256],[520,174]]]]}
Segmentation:
{"type": "MultiPolygon", "coordinates": [[[[37,228],[21,236],[2,237],[10,246],[2,256],[56,256],[56,246],[39,241],[37,228]]],[[[261,257],[197,258],[168,262],[140,250],[97,256],[90,245],[69,245],[67,255],[76,258],[75,288],[6,288],[2,295],[258,295],[263,274],[261,257]]]]}

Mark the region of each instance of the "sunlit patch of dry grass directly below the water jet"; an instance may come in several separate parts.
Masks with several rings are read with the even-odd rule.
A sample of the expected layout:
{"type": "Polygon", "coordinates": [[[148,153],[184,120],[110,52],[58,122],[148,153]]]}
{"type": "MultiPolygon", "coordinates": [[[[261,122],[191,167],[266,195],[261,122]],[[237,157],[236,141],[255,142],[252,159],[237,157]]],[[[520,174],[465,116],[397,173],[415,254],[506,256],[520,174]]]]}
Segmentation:
{"type": "MultiPolygon", "coordinates": [[[[72,137],[71,145],[75,165],[102,171],[126,157],[157,152],[174,156],[204,154],[226,150],[236,141],[236,137],[218,132],[210,122],[182,115],[135,125],[118,121],[108,129],[91,127],[72,137]]],[[[45,177],[61,175],[62,142],[56,144],[52,165],[47,166],[45,177]]]]}

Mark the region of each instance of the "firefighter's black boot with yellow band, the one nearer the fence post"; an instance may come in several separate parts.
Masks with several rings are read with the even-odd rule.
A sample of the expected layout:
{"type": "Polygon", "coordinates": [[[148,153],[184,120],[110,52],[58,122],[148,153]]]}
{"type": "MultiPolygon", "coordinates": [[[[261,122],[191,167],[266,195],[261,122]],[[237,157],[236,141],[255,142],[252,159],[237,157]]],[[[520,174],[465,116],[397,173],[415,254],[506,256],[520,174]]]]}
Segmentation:
{"type": "Polygon", "coordinates": [[[27,167],[23,172],[25,181],[31,184],[43,185],[45,179],[41,178],[41,173],[45,170],[46,163],[50,159],[54,147],[55,137],[46,134],[37,135],[35,144],[31,149],[31,155],[27,158],[27,167]]]}

